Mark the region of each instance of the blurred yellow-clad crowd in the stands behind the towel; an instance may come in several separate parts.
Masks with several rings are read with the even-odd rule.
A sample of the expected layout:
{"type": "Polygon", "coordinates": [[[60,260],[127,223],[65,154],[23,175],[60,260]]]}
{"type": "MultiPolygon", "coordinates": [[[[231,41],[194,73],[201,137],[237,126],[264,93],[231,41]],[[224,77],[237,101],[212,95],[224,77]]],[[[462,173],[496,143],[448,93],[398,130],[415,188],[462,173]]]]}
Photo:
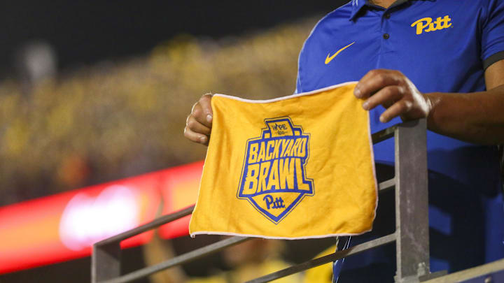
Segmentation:
{"type": "Polygon", "coordinates": [[[292,94],[315,20],[219,40],[179,36],[143,57],[0,82],[0,205],[204,158],[183,138],[202,94],[292,94]]]}

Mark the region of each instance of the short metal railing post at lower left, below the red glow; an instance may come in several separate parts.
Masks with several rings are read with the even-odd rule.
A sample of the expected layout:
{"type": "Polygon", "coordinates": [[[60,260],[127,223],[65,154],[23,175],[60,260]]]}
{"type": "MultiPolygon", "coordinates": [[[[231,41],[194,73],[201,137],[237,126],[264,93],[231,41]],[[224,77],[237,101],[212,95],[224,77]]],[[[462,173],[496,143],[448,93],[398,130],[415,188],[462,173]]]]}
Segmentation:
{"type": "Polygon", "coordinates": [[[120,276],[120,242],[93,245],[91,282],[97,283],[120,276]]]}

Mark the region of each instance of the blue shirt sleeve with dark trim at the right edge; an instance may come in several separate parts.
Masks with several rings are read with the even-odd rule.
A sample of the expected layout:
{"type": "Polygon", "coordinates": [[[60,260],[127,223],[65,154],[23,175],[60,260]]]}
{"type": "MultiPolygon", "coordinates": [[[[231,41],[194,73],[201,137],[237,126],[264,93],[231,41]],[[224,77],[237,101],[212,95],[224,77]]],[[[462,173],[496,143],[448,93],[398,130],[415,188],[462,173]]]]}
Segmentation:
{"type": "Polygon", "coordinates": [[[482,23],[482,61],[486,70],[504,59],[504,1],[489,0],[482,23]]]}

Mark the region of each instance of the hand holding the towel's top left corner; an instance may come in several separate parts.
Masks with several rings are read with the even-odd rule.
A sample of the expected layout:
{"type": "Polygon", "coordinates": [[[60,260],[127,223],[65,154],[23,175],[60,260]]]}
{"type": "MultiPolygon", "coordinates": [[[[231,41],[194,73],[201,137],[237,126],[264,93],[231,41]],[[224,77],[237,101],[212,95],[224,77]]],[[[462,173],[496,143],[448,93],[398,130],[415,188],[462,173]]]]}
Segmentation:
{"type": "Polygon", "coordinates": [[[210,139],[213,115],[210,103],[211,96],[212,94],[204,94],[195,103],[186,120],[186,128],[184,129],[186,138],[202,145],[208,145],[210,139]]]}

